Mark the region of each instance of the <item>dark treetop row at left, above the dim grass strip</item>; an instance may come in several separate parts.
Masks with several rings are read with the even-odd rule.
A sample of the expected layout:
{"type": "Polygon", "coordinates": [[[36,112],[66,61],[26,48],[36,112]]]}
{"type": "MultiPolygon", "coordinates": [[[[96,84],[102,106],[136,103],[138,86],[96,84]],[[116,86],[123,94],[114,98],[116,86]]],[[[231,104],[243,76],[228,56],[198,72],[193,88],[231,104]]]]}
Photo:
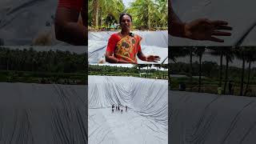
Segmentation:
{"type": "Polygon", "coordinates": [[[87,54],[70,51],[10,49],[0,46],[0,70],[36,71],[52,73],[86,72],[87,54]]]}

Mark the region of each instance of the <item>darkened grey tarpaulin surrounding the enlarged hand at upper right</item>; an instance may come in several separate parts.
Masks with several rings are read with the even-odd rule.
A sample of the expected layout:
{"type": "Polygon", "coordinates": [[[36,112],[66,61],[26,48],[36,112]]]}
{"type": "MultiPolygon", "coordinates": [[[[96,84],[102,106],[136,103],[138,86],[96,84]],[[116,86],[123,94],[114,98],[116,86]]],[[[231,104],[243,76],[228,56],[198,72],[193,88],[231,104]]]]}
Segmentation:
{"type": "Polygon", "coordinates": [[[173,0],[174,12],[182,22],[197,18],[225,20],[233,30],[232,36],[222,37],[223,43],[170,37],[170,46],[256,46],[255,6],[254,0],[173,0]]]}

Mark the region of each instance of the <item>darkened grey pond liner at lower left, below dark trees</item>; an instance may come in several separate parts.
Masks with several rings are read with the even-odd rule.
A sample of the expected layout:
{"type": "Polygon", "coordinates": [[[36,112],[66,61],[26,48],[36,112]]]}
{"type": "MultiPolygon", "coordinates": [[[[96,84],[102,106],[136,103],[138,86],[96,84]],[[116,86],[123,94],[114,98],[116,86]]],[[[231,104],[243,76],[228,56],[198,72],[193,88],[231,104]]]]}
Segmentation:
{"type": "Polygon", "coordinates": [[[0,143],[87,143],[87,86],[0,83],[0,143]]]}

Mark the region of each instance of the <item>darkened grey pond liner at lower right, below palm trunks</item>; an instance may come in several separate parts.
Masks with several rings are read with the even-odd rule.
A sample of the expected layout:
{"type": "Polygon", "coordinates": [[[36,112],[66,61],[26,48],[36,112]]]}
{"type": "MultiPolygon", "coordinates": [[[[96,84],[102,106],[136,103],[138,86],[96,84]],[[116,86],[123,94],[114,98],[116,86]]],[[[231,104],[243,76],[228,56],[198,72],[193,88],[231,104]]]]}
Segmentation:
{"type": "Polygon", "coordinates": [[[170,143],[254,144],[256,98],[169,91],[170,143]]]}

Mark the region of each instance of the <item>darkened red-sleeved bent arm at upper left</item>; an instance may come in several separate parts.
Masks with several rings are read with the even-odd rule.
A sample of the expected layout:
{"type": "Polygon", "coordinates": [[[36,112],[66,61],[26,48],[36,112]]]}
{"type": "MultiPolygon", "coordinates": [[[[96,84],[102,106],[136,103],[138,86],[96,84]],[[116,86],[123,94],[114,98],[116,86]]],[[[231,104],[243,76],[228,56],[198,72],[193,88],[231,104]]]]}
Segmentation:
{"type": "Polygon", "coordinates": [[[86,13],[85,0],[58,0],[55,18],[56,38],[71,45],[88,45],[86,13]],[[82,17],[82,24],[78,23],[79,14],[82,17]]]}

